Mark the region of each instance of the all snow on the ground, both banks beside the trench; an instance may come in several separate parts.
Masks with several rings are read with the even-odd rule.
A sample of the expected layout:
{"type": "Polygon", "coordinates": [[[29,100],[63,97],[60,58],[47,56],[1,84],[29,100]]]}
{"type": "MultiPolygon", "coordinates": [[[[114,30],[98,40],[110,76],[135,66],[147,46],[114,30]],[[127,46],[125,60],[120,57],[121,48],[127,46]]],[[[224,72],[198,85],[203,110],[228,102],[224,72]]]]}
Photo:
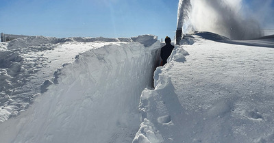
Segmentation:
{"type": "Polygon", "coordinates": [[[1,142],[273,142],[273,37],[180,43],[156,68],[151,35],[1,42],[1,142]]]}

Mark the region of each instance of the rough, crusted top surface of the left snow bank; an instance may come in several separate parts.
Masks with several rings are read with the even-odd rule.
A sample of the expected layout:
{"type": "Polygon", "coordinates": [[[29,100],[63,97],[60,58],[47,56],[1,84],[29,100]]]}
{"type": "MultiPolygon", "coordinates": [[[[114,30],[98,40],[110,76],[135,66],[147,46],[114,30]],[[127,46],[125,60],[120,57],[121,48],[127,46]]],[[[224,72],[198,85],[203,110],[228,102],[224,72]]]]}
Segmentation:
{"type": "MultiPolygon", "coordinates": [[[[157,42],[157,37],[151,35],[134,38],[32,36],[1,42],[0,122],[8,120],[10,116],[16,116],[32,103],[34,96],[46,92],[47,87],[55,82],[48,80],[54,70],[67,62],[73,62],[75,55],[116,42],[139,42],[145,44],[145,47],[150,47],[157,42]]],[[[116,55],[117,58],[120,56],[116,55]]]]}

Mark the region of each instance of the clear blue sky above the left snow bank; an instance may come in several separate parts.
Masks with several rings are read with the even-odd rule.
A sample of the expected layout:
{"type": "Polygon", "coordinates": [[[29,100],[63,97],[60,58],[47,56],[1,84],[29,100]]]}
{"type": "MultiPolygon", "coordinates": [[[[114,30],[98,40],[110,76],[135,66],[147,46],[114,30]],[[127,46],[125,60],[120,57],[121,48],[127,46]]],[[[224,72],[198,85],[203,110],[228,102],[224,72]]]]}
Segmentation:
{"type": "Polygon", "coordinates": [[[0,0],[0,32],[58,38],[118,38],[142,34],[173,38],[178,2],[179,0],[0,0]]]}

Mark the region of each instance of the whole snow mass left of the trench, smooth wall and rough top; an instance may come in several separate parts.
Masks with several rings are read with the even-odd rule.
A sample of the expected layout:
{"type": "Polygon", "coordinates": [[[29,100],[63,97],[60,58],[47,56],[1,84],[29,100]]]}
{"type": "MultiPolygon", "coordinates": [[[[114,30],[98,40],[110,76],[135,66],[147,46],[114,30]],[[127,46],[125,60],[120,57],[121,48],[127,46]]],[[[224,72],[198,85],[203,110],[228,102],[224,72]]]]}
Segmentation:
{"type": "Polygon", "coordinates": [[[28,83],[10,90],[32,84],[34,91],[25,89],[24,94],[36,98],[26,109],[21,105],[31,102],[10,94],[10,103],[1,107],[1,119],[7,120],[0,125],[1,142],[131,142],[140,125],[140,94],[153,86],[159,48],[157,37],[151,35],[120,40],[29,37],[10,42],[6,51],[16,49],[22,58],[4,60],[40,70],[16,73],[29,76],[28,83]],[[20,115],[8,120],[12,112],[20,115]]]}

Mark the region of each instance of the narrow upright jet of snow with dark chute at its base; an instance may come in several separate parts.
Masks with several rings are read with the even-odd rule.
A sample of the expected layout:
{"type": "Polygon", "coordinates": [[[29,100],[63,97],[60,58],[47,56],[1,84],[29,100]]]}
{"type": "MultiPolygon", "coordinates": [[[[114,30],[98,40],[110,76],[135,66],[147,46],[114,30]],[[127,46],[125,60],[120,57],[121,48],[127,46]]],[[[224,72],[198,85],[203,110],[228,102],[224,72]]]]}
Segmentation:
{"type": "Polygon", "coordinates": [[[188,12],[190,11],[190,8],[190,0],[179,0],[176,44],[179,44],[180,40],[182,39],[182,27],[184,26],[184,22],[188,19],[188,12]]]}

